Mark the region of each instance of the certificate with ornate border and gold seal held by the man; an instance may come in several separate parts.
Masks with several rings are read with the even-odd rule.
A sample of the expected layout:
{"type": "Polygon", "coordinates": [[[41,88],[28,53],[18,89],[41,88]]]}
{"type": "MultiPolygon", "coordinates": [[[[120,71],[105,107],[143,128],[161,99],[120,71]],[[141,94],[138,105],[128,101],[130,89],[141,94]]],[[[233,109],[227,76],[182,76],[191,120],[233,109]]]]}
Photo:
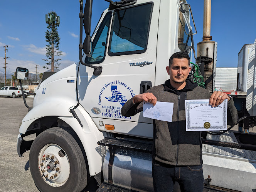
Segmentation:
{"type": "Polygon", "coordinates": [[[185,100],[186,131],[227,130],[227,99],[217,107],[209,99],[185,100]]]}

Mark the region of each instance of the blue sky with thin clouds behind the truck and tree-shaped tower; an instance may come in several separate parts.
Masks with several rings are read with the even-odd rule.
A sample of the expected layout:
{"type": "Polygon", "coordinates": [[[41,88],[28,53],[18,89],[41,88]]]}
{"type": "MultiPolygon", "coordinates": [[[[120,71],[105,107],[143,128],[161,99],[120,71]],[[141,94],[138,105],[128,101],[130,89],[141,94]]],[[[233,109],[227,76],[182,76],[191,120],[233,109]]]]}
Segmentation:
{"type": "MultiPolygon", "coordinates": [[[[85,0],[84,0],[85,1],[85,0]]],[[[138,0],[139,1],[139,0],[138,0]]],[[[187,0],[197,27],[195,46],[202,41],[203,0],[187,0]]],[[[109,3],[93,0],[92,31],[103,10],[109,3]]],[[[238,53],[244,44],[254,43],[256,38],[256,1],[212,0],[211,36],[218,42],[217,67],[237,67],[238,53]]],[[[0,1],[0,61],[5,56],[3,45],[8,45],[7,73],[13,73],[17,66],[35,71],[46,71],[45,65],[45,14],[55,11],[60,16],[58,28],[61,38],[61,65],[65,68],[79,61],[79,0],[1,0],[0,1]]],[[[4,68],[0,68],[3,73],[4,68]]]]}

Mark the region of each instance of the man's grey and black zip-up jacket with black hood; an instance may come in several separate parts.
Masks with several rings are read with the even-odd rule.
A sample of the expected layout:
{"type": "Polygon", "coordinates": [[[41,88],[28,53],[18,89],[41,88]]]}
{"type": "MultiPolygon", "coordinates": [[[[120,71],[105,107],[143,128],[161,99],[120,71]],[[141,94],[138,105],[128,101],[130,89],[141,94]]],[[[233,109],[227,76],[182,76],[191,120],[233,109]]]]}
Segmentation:
{"type": "MultiPolygon", "coordinates": [[[[185,99],[209,99],[211,93],[197,84],[186,80],[186,86],[177,94],[170,85],[170,79],[164,84],[148,89],[157,101],[173,103],[172,122],[153,119],[153,159],[175,166],[200,165],[202,161],[202,142],[200,131],[186,131],[185,99]]],[[[133,98],[125,103],[123,116],[134,116],[143,110],[143,102],[133,104],[133,98]]],[[[233,99],[227,105],[227,124],[235,125],[237,110],[233,99]]]]}

